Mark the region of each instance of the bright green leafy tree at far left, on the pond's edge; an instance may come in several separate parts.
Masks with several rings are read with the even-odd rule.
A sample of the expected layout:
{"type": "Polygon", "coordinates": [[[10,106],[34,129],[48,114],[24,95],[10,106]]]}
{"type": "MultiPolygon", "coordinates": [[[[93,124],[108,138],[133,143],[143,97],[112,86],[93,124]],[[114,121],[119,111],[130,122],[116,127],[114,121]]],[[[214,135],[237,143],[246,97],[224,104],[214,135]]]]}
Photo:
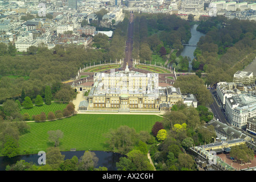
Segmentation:
{"type": "Polygon", "coordinates": [[[3,155],[13,158],[19,154],[19,144],[11,135],[5,135],[5,143],[3,143],[3,155]]]}

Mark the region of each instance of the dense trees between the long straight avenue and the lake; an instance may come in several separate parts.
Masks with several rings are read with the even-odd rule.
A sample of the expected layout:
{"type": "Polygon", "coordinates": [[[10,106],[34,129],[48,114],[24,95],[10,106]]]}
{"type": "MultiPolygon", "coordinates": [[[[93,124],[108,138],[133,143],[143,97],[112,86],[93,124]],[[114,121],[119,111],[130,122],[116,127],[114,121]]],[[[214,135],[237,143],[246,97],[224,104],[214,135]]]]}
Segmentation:
{"type": "MultiPolygon", "coordinates": [[[[176,15],[135,14],[133,58],[151,61],[151,55],[158,55],[166,61],[170,59],[167,56],[170,50],[183,49],[183,43],[188,42],[189,38],[189,23],[176,15]]],[[[185,64],[188,67],[187,61],[185,64]]],[[[182,70],[184,67],[177,68],[182,70]]]]}

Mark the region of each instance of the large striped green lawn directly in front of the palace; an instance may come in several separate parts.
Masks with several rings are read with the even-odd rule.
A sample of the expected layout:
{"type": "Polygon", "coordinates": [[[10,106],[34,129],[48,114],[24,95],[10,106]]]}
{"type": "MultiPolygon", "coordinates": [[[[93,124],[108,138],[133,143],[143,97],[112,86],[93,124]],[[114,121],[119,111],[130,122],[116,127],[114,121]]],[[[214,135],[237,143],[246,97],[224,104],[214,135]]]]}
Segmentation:
{"type": "Polygon", "coordinates": [[[48,141],[47,131],[61,130],[64,137],[60,139],[60,151],[96,150],[106,151],[104,134],[110,129],[127,125],[139,131],[151,132],[156,121],[161,121],[158,115],[130,115],[130,114],[77,114],[69,118],[47,122],[30,122],[30,133],[19,139],[21,154],[37,154],[54,146],[48,141]]]}

